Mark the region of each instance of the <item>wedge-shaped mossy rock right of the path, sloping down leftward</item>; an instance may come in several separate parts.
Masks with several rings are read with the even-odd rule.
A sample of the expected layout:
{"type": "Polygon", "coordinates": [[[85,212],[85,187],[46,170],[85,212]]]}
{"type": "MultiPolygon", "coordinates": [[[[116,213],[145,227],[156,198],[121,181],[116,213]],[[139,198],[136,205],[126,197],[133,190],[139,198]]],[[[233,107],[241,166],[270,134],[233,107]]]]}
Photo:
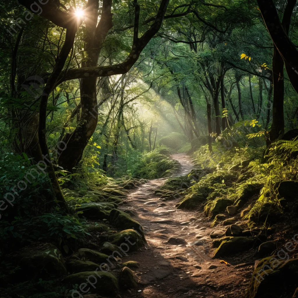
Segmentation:
{"type": "Polygon", "coordinates": [[[220,246],[215,250],[213,259],[226,257],[237,252],[249,250],[254,245],[254,237],[232,237],[223,240],[220,246]]]}

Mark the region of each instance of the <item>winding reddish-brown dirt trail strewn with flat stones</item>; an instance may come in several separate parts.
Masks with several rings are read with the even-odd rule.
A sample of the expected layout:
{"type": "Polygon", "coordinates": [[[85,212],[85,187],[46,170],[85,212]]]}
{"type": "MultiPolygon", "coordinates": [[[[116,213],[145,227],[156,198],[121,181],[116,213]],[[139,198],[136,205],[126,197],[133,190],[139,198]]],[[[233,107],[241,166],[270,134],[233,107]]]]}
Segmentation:
{"type": "MultiPolygon", "coordinates": [[[[176,176],[193,169],[189,156],[174,154],[172,157],[181,164],[176,176]]],[[[228,267],[219,260],[212,260],[210,221],[201,212],[176,209],[179,199],[162,201],[154,195],[165,180],[151,180],[128,195],[125,209],[136,214],[133,218],[143,226],[148,245],[124,259],[140,263],[135,273],[141,279],[138,289],[141,291],[125,292],[122,296],[244,297],[252,269],[228,267]],[[171,237],[180,239],[170,244],[171,237]],[[211,265],[217,267],[209,269],[211,265]]],[[[240,256],[237,263],[241,261],[240,256]]]]}

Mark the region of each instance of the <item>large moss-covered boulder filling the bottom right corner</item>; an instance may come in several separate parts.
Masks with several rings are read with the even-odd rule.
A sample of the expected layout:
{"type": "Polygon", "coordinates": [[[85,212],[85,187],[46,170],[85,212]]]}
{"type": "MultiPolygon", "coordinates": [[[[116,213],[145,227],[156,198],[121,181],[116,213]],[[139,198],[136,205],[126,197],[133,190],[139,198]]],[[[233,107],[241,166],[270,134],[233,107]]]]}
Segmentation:
{"type": "Polygon", "coordinates": [[[267,257],[257,264],[247,290],[247,297],[290,298],[294,296],[297,286],[298,259],[282,260],[277,256],[267,257]]]}

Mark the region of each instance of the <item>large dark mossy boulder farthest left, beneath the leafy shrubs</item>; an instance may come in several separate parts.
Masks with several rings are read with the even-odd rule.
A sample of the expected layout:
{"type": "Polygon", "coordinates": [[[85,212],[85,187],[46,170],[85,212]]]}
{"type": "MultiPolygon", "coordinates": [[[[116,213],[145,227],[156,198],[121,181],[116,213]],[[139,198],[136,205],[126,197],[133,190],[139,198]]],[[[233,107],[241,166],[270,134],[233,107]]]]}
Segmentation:
{"type": "Polygon", "coordinates": [[[22,249],[19,256],[19,266],[26,271],[28,277],[31,274],[39,274],[39,276],[50,275],[56,278],[67,275],[60,250],[50,243],[33,244],[22,249]]]}

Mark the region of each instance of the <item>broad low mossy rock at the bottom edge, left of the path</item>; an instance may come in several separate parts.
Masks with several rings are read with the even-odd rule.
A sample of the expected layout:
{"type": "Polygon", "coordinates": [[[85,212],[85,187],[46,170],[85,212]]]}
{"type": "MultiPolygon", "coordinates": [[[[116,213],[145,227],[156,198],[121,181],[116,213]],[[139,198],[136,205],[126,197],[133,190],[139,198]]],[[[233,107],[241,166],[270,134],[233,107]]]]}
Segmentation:
{"type": "Polygon", "coordinates": [[[117,294],[118,291],[117,278],[109,272],[100,270],[71,274],[66,276],[63,282],[69,286],[80,285],[85,291],[88,289],[88,292],[90,291],[91,294],[106,294],[110,296],[111,294],[117,294]]]}

